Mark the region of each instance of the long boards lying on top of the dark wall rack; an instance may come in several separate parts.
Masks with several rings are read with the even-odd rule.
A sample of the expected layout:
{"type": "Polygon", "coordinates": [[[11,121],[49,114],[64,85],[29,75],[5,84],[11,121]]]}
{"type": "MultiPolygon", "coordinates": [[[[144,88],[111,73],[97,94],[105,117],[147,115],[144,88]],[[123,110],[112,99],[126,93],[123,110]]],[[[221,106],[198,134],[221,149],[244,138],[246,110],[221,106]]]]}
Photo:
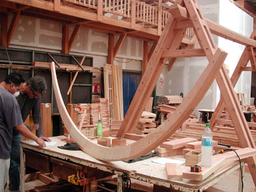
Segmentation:
{"type": "MultiPolygon", "coordinates": [[[[65,68],[66,71],[83,71],[79,65],[74,65],[74,64],[60,64],[58,63],[60,68],[65,68]]],[[[51,63],[47,62],[32,62],[32,66],[36,67],[44,67],[44,68],[51,68],[51,63]]],[[[90,67],[90,66],[81,66],[85,71],[89,72],[95,72],[95,73],[103,73],[103,70],[101,68],[95,68],[95,67],[90,67]]],[[[56,70],[58,70],[58,67],[56,67],[56,70]]]]}

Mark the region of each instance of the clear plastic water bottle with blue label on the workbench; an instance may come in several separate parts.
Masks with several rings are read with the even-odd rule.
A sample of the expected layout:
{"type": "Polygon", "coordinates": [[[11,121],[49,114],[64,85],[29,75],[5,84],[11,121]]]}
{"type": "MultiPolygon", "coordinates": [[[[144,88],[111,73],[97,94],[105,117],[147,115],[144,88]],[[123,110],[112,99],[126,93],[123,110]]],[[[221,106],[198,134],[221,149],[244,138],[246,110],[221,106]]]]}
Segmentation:
{"type": "Polygon", "coordinates": [[[210,124],[206,124],[206,128],[202,133],[201,151],[201,165],[210,167],[212,165],[212,131],[210,129],[210,124]]]}

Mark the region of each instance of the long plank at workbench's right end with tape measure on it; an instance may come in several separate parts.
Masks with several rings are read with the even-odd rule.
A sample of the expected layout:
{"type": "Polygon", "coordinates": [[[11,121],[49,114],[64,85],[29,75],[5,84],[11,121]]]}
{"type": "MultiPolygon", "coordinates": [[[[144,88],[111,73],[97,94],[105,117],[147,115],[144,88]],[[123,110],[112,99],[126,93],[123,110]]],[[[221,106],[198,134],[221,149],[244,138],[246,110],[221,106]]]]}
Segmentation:
{"type": "MultiPolygon", "coordinates": [[[[250,156],[256,155],[256,149],[253,148],[243,148],[236,150],[240,159],[248,158],[250,156]]],[[[212,156],[212,166],[211,167],[202,167],[202,172],[190,172],[190,168],[183,172],[184,179],[190,180],[204,180],[212,173],[218,171],[218,169],[222,168],[226,164],[237,161],[238,157],[235,152],[225,152],[223,154],[218,154],[212,156]]],[[[201,165],[200,163],[198,165],[201,165]]]]}

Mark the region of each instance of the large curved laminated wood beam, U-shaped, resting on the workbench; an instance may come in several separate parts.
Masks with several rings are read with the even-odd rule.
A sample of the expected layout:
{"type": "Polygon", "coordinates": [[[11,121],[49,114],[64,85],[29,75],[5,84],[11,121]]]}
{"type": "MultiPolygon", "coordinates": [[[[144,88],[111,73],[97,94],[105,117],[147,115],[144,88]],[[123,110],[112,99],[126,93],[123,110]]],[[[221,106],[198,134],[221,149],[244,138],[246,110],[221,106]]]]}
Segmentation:
{"type": "Polygon", "coordinates": [[[227,53],[220,50],[219,48],[192,90],[189,92],[188,96],[184,99],[184,101],[180,104],[172,116],[165,120],[165,122],[156,128],[156,130],[151,134],[132,144],[120,148],[108,148],[99,144],[94,144],[76,127],[68,115],[62,100],[56,77],[54,62],[52,62],[52,84],[60,116],[69,134],[72,136],[72,139],[76,141],[76,144],[88,155],[105,161],[135,159],[158,147],[181,126],[183,121],[188,118],[188,116],[202,100],[205,93],[208,91],[208,88],[211,86],[216,74],[220,71],[226,56],[227,53]]]}

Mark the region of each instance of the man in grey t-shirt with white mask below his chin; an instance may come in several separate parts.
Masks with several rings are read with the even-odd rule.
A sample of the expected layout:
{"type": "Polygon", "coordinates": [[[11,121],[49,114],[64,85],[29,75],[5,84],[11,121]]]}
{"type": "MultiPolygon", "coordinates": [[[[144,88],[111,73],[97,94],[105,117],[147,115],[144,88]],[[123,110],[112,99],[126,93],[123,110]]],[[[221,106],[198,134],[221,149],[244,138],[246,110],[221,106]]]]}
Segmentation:
{"type": "Polygon", "coordinates": [[[38,138],[24,125],[17,100],[13,96],[23,87],[24,79],[19,73],[9,74],[0,83],[0,192],[8,178],[12,132],[16,130],[21,135],[35,140],[39,148],[46,147],[44,140],[38,138]]]}

